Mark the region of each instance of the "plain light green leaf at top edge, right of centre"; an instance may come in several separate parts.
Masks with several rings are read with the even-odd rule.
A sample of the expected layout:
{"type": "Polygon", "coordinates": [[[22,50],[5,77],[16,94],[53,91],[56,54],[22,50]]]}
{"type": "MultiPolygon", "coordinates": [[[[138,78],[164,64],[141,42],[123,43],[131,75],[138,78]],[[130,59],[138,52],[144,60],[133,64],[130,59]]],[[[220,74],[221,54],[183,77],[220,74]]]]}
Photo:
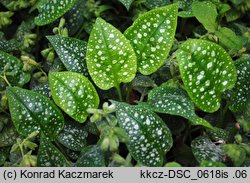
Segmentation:
{"type": "Polygon", "coordinates": [[[193,15],[209,32],[217,30],[217,9],[216,5],[210,1],[193,2],[192,4],[193,15]]]}

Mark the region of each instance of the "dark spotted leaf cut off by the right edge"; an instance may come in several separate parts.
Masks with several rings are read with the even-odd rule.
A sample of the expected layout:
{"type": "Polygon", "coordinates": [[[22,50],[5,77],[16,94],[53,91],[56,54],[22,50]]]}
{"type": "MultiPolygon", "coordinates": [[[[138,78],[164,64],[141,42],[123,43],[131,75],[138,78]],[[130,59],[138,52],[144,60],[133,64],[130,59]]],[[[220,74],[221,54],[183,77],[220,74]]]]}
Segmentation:
{"type": "Polygon", "coordinates": [[[230,110],[242,111],[250,103],[250,57],[235,62],[237,82],[230,91],[230,110]]]}

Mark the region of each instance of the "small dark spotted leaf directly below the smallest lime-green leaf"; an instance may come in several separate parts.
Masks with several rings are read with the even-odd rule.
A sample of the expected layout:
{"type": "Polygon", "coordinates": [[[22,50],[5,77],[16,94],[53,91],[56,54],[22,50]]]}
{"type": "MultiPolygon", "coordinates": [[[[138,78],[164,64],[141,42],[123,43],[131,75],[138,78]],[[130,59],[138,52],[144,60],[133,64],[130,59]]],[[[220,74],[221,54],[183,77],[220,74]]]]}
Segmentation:
{"type": "Polygon", "coordinates": [[[86,146],[87,131],[79,124],[66,122],[58,141],[73,151],[81,151],[86,146]]]}

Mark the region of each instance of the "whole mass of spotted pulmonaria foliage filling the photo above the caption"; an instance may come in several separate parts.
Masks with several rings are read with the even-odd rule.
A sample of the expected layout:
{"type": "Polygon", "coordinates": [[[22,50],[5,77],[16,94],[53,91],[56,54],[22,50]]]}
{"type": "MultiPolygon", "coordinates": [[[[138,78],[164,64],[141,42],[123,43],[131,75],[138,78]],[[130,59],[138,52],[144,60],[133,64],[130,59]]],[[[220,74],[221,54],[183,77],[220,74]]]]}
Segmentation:
{"type": "Polygon", "coordinates": [[[4,0],[0,166],[249,166],[249,28],[174,2],[4,0]]]}

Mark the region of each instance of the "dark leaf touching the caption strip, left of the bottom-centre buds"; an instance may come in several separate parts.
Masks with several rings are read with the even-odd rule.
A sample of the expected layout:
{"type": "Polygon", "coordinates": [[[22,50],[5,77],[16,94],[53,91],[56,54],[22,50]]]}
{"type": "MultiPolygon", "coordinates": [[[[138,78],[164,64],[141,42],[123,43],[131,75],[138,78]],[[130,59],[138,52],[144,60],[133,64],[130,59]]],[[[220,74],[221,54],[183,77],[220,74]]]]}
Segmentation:
{"type": "Polygon", "coordinates": [[[105,166],[104,152],[98,145],[85,147],[81,152],[80,158],[76,162],[76,166],[104,167],[105,166]]]}

